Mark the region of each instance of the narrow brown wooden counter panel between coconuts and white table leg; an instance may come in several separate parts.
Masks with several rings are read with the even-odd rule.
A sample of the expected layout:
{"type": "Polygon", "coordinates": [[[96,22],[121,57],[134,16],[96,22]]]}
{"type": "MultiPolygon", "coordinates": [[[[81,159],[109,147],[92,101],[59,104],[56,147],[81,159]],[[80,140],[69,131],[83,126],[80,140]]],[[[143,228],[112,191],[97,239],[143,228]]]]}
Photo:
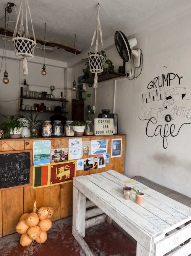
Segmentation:
{"type": "Polygon", "coordinates": [[[60,185],[60,218],[72,215],[73,182],[60,185]]]}

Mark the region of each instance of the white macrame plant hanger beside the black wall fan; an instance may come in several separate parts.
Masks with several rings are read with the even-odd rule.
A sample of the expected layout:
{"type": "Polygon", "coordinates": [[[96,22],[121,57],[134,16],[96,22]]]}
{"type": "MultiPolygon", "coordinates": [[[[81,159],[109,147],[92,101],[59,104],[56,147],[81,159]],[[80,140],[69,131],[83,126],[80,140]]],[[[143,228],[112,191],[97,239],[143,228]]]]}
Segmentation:
{"type": "Polygon", "coordinates": [[[99,8],[100,8],[100,5],[98,3],[98,5],[97,5],[97,27],[95,28],[94,35],[92,37],[92,43],[91,43],[90,50],[88,53],[89,71],[92,74],[95,74],[94,88],[97,88],[97,74],[102,73],[104,71],[104,68],[103,68],[104,56],[102,56],[98,53],[98,37],[99,37],[99,35],[100,35],[100,40],[101,40],[101,44],[102,44],[102,50],[104,50],[104,43],[103,43],[103,39],[102,39],[102,29],[101,29],[100,19],[99,19],[99,8]],[[96,36],[95,53],[91,54],[91,48],[94,43],[95,36],[96,36]]]}

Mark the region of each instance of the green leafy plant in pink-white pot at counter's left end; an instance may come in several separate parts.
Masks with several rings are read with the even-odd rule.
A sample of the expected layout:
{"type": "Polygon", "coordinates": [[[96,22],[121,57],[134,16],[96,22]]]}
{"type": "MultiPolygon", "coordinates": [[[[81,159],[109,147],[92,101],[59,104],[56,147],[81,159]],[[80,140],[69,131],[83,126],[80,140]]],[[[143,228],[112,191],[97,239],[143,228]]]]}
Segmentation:
{"type": "Polygon", "coordinates": [[[20,115],[10,115],[10,116],[5,116],[6,121],[1,124],[1,129],[3,130],[3,136],[8,137],[10,132],[14,134],[14,129],[16,128],[16,131],[18,132],[21,127],[26,126],[25,121],[19,121],[21,118],[20,115]]]}

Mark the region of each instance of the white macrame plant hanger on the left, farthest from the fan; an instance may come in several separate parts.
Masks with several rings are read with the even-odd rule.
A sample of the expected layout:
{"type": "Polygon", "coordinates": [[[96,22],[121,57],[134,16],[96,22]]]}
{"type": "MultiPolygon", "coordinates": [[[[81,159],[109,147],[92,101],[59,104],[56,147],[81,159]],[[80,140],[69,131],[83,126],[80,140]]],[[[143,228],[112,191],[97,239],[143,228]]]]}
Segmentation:
{"type": "Polygon", "coordinates": [[[32,33],[34,40],[30,39],[29,31],[28,31],[28,15],[31,19],[31,25],[32,25],[32,18],[31,18],[31,11],[29,8],[28,0],[21,0],[21,5],[19,8],[19,14],[16,21],[15,30],[13,33],[13,43],[15,46],[15,55],[19,59],[23,59],[23,75],[28,75],[28,65],[27,65],[27,59],[32,59],[34,57],[34,48],[36,47],[36,38],[34,35],[34,28],[32,25],[32,33]],[[25,1],[25,7],[26,7],[26,31],[24,31],[24,25],[23,25],[23,9],[24,9],[24,1],[25,1]],[[19,22],[19,17],[21,15],[21,24],[19,26],[19,31],[17,34],[17,26],[19,22]]]}

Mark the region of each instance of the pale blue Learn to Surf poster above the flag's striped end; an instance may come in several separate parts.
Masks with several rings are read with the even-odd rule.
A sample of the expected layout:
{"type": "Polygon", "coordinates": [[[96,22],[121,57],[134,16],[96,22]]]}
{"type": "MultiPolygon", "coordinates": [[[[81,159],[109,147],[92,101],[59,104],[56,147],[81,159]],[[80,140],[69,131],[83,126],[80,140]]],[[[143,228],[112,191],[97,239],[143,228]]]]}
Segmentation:
{"type": "Polygon", "coordinates": [[[50,140],[33,141],[33,162],[34,165],[50,164],[50,140]]]}

